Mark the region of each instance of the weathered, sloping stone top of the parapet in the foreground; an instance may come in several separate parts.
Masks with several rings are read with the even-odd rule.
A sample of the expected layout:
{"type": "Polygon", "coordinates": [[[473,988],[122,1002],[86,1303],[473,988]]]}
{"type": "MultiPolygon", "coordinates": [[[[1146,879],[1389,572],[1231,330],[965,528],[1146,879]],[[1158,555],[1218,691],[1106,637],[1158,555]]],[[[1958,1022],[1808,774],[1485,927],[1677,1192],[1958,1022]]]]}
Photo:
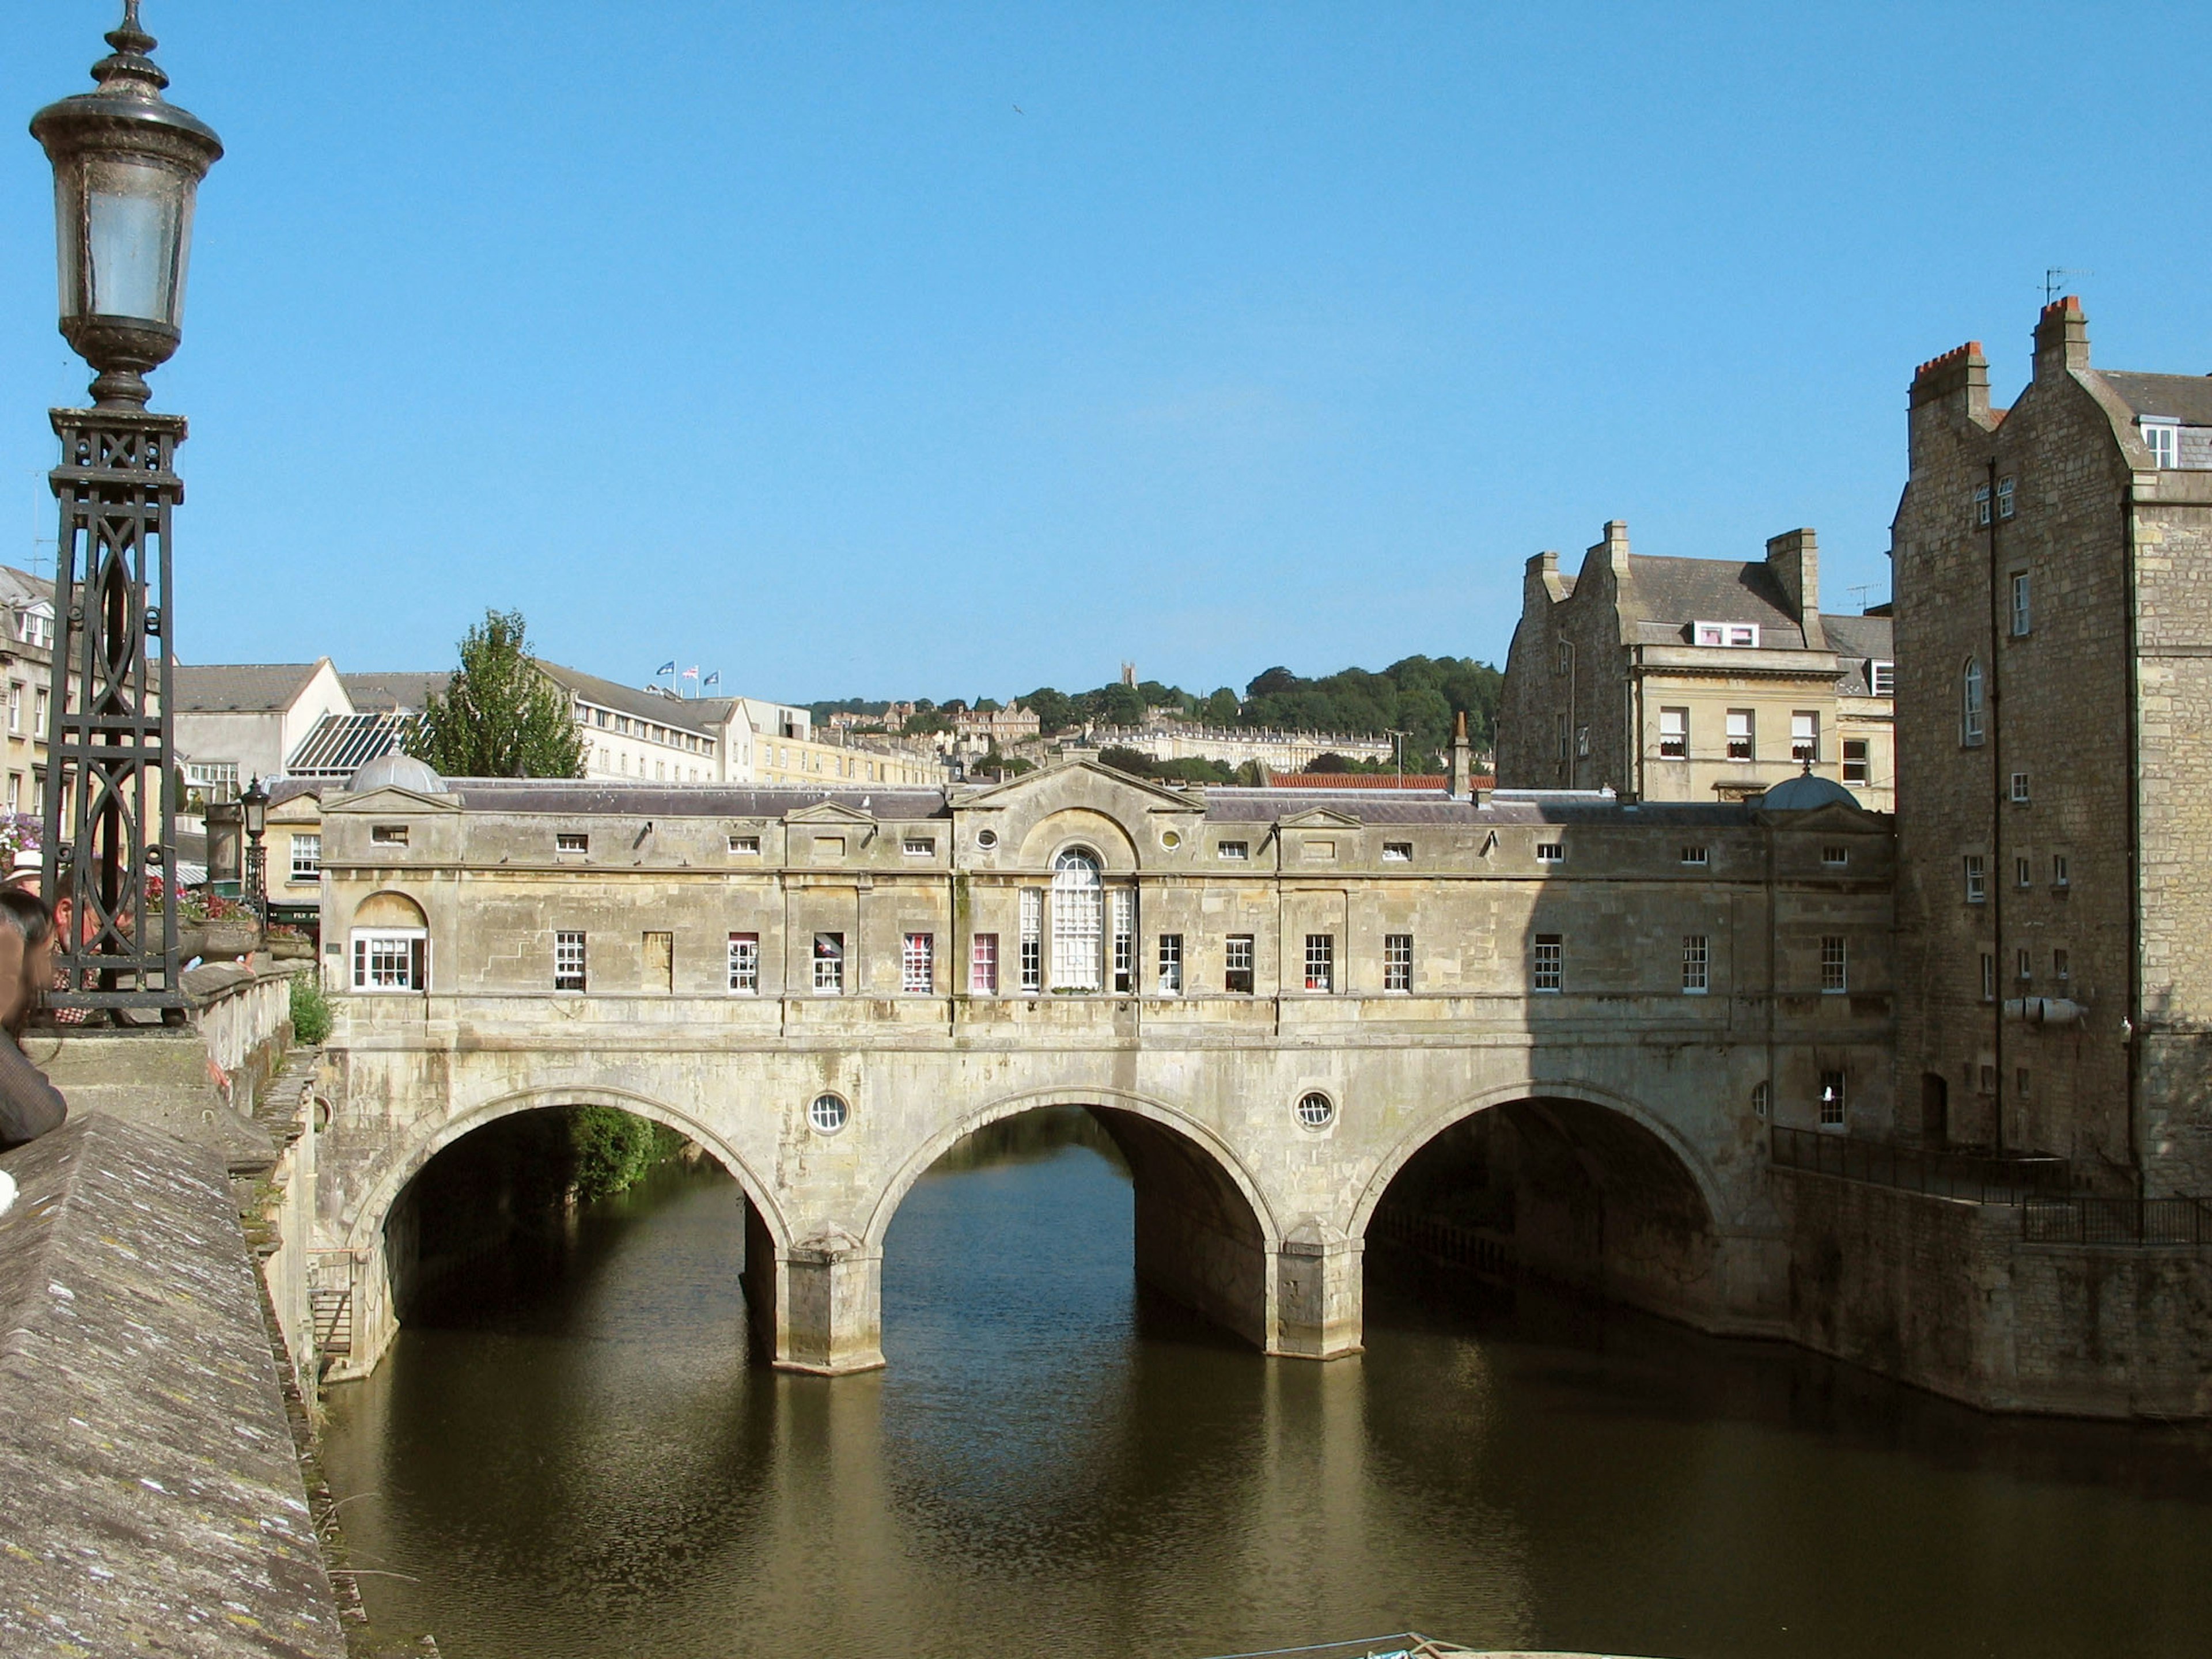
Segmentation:
{"type": "Polygon", "coordinates": [[[84,1113],[0,1168],[0,1650],[345,1659],[223,1159],[84,1113]]]}

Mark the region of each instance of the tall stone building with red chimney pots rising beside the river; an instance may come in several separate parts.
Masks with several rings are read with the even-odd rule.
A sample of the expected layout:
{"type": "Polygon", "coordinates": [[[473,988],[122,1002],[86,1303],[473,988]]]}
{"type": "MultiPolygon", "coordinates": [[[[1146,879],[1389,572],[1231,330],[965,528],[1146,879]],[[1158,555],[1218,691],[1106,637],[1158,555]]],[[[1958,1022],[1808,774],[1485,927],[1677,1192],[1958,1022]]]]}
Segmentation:
{"type": "Polygon", "coordinates": [[[1898,504],[1905,1130],[2212,1190],[2212,380],[1920,365],[1898,504]]]}

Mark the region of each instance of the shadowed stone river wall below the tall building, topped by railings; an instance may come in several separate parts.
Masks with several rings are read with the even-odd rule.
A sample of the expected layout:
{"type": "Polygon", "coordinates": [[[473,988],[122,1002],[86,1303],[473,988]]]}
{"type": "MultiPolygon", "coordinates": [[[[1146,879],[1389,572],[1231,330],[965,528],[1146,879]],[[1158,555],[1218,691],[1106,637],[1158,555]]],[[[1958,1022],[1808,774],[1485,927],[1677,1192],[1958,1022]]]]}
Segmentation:
{"type": "Polygon", "coordinates": [[[2212,1250],[2031,1243],[2022,1208],[1774,1170],[1790,1336],[1984,1411],[2212,1416],[2212,1250]]]}

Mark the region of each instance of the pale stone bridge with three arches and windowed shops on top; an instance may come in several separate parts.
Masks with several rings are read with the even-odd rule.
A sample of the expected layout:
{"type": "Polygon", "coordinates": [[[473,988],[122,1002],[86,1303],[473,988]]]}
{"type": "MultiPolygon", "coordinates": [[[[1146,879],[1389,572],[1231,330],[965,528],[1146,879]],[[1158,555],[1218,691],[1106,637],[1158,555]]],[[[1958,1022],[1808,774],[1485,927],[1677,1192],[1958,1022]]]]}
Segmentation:
{"type": "Polygon", "coordinates": [[[323,869],[334,1376],[396,1329],[414,1179],[546,1106],[670,1124],[730,1172],[759,1338],[807,1371],[883,1363],[900,1199],[1040,1106],[1091,1108],[1124,1150],[1148,1283],[1310,1358],[1360,1347],[1394,1177],[1493,1108],[1597,1194],[1608,1292],[1736,1332],[1783,1312],[1767,1121],[1889,1121],[1891,832],[1847,801],[383,761],[327,803],[323,869]]]}

